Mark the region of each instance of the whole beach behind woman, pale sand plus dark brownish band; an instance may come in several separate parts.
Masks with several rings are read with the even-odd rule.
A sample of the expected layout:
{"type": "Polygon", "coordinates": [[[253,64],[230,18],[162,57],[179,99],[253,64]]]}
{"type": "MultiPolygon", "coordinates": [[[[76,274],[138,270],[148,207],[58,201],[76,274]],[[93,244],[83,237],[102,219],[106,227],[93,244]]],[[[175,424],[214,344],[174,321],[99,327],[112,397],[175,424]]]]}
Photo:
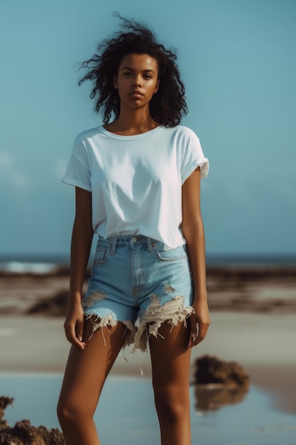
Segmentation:
{"type": "MultiPolygon", "coordinates": [[[[273,410],[270,412],[295,417],[296,274],[293,270],[283,274],[278,269],[261,269],[256,273],[243,270],[245,272],[213,269],[208,274],[211,326],[204,341],[192,350],[192,379],[195,360],[202,355],[234,360],[250,375],[251,394],[255,395],[252,388],[256,388],[258,393],[262,391],[267,395],[266,403],[273,410]]],[[[2,393],[5,388],[1,381],[8,377],[17,376],[19,379],[23,376],[26,379],[32,375],[57,375],[62,378],[70,348],[62,326],[65,307],[61,301],[67,294],[67,286],[67,271],[2,274],[2,393]],[[55,298],[57,296],[59,298],[55,298]],[[53,300],[55,304],[48,304],[53,300]]],[[[131,354],[131,348],[126,348],[111,370],[111,381],[132,378],[133,381],[141,382],[142,379],[146,382],[150,375],[149,353],[131,354]]],[[[1,395],[15,397],[13,393],[1,395]]],[[[291,428],[294,427],[296,429],[296,417],[291,428]]],[[[209,441],[209,444],[216,443],[219,442],[209,441]]],[[[239,444],[238,441],[233,443],[239,444]]],[[[256,441],[245,443],[256,444],[256,441]]],[[[266,443],[273,444],[272,441],[266,443]]],[[[281,445],[293,443],[296,444],[296,440],[292,442],[289,439],[281,445]]]]}

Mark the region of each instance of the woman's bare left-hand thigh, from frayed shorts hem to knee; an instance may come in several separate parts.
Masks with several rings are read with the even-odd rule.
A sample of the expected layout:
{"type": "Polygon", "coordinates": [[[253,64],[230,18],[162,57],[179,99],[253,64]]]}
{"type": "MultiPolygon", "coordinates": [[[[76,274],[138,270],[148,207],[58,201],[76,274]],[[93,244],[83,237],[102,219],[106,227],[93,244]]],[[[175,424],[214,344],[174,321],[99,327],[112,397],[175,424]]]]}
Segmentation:
{"type": "Polygon", "coordinates": [[[92,335],[92,321],[84,325],[84,350],[72,346],[67,361],[60,404],[93,415],[109,371],[124,343],[126,327],[101,328],[92,335]]]}

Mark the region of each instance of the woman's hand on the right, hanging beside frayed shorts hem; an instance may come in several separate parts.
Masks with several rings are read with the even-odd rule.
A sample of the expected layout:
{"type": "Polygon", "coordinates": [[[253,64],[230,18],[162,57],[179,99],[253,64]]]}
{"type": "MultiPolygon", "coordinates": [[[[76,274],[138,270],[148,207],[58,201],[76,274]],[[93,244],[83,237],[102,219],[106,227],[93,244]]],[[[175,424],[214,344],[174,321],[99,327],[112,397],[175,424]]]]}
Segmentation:
{"type": "Polygon", "coordinates": [[[204,340],[209,329],[209,308],[207,301],[197,301],[192,304],[194,313],[190,316],[190,342],[189,347],[192,348],[204,340]]]}

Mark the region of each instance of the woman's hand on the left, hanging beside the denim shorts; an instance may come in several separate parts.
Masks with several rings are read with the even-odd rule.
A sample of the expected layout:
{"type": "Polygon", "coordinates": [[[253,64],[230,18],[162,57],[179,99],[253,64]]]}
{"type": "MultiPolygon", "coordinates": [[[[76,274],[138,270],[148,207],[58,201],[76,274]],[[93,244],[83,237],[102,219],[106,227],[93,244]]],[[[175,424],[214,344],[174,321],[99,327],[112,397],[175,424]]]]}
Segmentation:
{"type": "Polygon", "coordinates": [[[84,313],[79,304],[73,309],[69,309],[65,319],[64,328],[67,340],[77,348],[84,349],[85,343],[82,341],[84,327],[84,313]]]}

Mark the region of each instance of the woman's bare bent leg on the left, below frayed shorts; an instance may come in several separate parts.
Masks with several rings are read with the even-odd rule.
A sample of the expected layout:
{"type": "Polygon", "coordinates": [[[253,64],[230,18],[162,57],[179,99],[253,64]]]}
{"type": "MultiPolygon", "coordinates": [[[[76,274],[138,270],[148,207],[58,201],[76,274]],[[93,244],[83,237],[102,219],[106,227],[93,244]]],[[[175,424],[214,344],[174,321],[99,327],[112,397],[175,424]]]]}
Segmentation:
{"type": "Polygon", "coordinates": [[[124,344],[126,327],[100,328],[92,335],[92,322],[84,325],[84,350],[72,346],[62,383],[57,416],[67,445],[99,445],[92,419],[104,382],[124,344]],[[104,329],[104,336],[102,335],[104,329]]]}

